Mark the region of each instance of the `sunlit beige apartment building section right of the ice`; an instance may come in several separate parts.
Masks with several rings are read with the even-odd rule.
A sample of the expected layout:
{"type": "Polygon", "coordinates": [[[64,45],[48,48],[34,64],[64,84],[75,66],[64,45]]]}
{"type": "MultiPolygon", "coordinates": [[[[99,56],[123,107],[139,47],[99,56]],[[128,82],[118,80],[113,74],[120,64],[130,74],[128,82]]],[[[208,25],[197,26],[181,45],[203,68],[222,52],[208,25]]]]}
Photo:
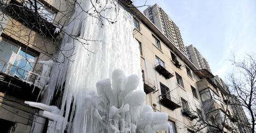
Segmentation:
{"type": "Polygon", "coordinates": [[[222,79],[212,75],[210,68],[198,69],[156,26],[155,19],[153,23],[152,18],[139,17],[140,26],[133,34],[141,50],[146,103],[155,111],[168,113],[168,132],[196,132],[206,123],[195,123],[203,119],[209,125],[200,132],[222,128],[224,132],[239,132],[231,118],[234,112],[227,103],[229,90],[222,79]]]}

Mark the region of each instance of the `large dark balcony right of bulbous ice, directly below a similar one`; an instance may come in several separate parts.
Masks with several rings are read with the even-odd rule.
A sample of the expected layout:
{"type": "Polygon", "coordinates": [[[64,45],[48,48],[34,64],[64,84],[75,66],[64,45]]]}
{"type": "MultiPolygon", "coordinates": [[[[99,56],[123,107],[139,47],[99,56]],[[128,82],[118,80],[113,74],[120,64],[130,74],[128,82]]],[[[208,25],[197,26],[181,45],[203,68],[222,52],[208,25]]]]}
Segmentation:
{"type": "Polygon", "coordinates": [[[160,97],[160,102],[169,109],[174,110],[181,107],[180,102],[177,99],[171,97],[170,94],[163,94],[163,95],[160,95],[159,97],[160,97]]]}

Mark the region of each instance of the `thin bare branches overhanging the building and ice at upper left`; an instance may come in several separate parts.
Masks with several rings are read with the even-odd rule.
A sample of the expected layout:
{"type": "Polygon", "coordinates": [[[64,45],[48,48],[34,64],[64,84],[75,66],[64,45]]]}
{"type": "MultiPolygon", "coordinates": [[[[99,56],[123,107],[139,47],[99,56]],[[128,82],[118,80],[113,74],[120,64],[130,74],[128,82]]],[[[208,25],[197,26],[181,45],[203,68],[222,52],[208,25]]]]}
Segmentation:
{"type": "MultiPolygon", "coordinates": [[[[107,18],[102,15],[102,12],[110,10],[111,8],[119,9],[120,6],[125,6],[126,8],[137,7],[133,6],[131,4],[132,1],[129,0],[108,0],[108,3],[113,4],[113,6],[109,8],[106,5],[101,5],[101,10],[98,10],[95,7],[96,4],[100,4],[98,0],[88,1],[92,3],[93,6],[88,10],[84,10],[83,5],[74,0],[49,1],[53,4],[57,3],[56,5],[58,6],[52,6],[48,4],[48,1],[46,2],[44,0],[1,0],[0,33],[8,39],[13,38],[25,45],[26,52],[29,46],[31,46],[39,49],[42,54],[52,58],[53,61],[58,62],[57,59],[54,58],[54,54],[48,51],[47,47],[50,42],[53,47],[56,48],[56,51],[62,53],[63,49],[60,49],[60,40],[64,35],[68,35],[70,38],[81,42],[82,45],[85,45],[85,49],[87,49],[86,45],[101,42],[101,40],[83,38],[80,36],[79,32],[76,35],[71,35],[68,31],[65,31],[66,26],[69,26],[72,21],[81,19],[77,16],[72,17],[74,11],[79,9],[80,14],[94,17],[101,22],[101,26],[104,26],[103,21],[113,24],[118,20],[115,18],[107,18]],[[54,17],[58,18],[54,19],[54,17]],[[36,34],[38,34],[38,38],[41,39],[42,44],[40,45],[34,44],[33,39],[38,39],[35,37],[36,34]]],[[[146,6],[146,2],[147,1],[145,1],[144,5],[139,5],[138,7],[146,6]]],[[[84,19],[80,21],[85,21],[84,19]]],[[[74,50],[74,48],[75,46],[69,50],[74,50]]],[[[70,58],[66,57],[64,54],[63,56],[66,59],[70,58]]]]}

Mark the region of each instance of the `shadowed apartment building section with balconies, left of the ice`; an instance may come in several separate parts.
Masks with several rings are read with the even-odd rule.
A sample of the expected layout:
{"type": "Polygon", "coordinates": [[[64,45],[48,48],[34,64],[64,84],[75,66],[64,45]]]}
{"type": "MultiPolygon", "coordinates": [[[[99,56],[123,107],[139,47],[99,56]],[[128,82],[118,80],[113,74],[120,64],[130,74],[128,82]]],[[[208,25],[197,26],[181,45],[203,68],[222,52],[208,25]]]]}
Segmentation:
{"type": "Polygon", "coordinates": [[[56,52],[51,36],[70,11],[68,1],[36,1],[36,17],[33,2],[1,1],[0,132],[30,132],[33,122],[45,124],[34,121],[34,115],[46,118],[24,101],[40,102],[49,76],[42,65],[50,67],[41,61],[56,52]]]}

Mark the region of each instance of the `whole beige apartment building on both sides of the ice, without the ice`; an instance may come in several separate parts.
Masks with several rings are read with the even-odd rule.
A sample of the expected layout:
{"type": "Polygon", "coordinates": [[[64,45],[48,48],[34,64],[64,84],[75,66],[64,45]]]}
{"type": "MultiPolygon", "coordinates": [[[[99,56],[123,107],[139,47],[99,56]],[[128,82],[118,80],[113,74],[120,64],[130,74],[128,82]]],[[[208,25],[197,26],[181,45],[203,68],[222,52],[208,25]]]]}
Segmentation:
{"type": "MultiPolygon", "coordinates": [[[[66,8],[66,3],[40,1],[39,4],[45,7],[42,8],[44,11],[50,12],[51,16],[41,17],[48,26],[52,27],[51,32],[56,31],[59,24],[64,25],[68,18],[60,10],[66,8]]],[[[151,105],[154,111],[167,112],[168,132],[195,132],[197,127],[194,124],[199,121],[198,119],[209,117],[210,121],[210,116],[214,114],[218,119],[215,123],[217,126],[225,123],[226,132],[234,131],[231,119],[223,120],[223,116],[233,113],[224,102],[228,90],[224,88],[223,83],[209,71],[198,70],[197,66],[186,57],[186,51],[181,50],[185,48],[173,43],[173,40],[164,35],[160,28],[142,12],[136,8],[132,8],[131,11],[137,18],[133,35],[139,42],[138,47],[141,50],[146,103],[151,105]]],[[[46,84],[38,83],[44,77],[48,77],[42,75],[44,63],[40,61],[50,59],[45,51],[54,54],[56,47],[50,37],[41,36],[38,31],[32,30],[29,25],[11,14],[4,15],[9,19],[2,21],[4,28],[0,40],[0,64],[2,64],[0,65],[0,124],[3,125],[0,130],[30,132],[32,123],[42,124],[47,129],[47,121],[51,119],[46,123],[35,121],[34,115],[45,120],[46,118],[37,114],[38,109],[23,103],[24,101],[40,102],[39,94],[44,91],[46,84]]],[[[181,36],[180,39],[182,42],[181,36]]],[[[212,119],[212,123],[214,122],[215,119],[212,119]]],[[[212,130],[214,130],[212,127],[206,129],[206,131],[212,130]]]]}

